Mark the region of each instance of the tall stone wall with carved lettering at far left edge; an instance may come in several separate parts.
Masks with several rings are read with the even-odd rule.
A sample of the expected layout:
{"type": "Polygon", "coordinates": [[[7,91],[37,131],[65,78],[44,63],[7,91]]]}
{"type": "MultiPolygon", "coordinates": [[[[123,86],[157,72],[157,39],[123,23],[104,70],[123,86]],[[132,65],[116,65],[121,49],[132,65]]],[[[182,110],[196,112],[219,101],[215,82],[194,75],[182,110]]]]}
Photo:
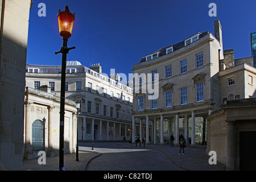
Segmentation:
{"type": "Polygon", "coordinates": [[[0,170],[22,169],[24,88],[31,0],[0,1],[0,170]]]}

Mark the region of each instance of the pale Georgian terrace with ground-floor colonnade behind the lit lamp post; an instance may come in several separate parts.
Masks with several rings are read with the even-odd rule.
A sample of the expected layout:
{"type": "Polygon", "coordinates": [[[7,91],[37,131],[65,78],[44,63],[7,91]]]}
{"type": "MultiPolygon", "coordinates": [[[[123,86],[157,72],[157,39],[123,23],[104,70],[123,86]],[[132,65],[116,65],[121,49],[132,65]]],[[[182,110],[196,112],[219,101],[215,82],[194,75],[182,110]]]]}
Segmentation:
{"type": "MultiPolygon", "coordinates": [[[[60,72],[60,66],[27,65],[26,85],[35,89],[49,85],[51,93],[60,96],[60,72]]],[[[133,88],[121,83],[118,73],[109,77],[100,64],[87,68],[79,61],[67,61],[65,97],[81,103],[79,140],[129,139],[133,88]]]]}

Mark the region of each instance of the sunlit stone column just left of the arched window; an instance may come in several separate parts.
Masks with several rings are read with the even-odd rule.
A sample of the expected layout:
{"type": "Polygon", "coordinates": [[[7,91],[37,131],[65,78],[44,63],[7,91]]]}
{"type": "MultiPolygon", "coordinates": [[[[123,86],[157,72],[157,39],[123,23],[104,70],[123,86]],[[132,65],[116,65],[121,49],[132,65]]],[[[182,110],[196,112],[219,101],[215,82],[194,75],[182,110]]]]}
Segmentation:
{"type": "Polygon", "coordinates": [[[24,158],[25,159],[33,159],[34,156],[32,154],[32,119],[31,119],[31,111],[34,111],[34,106],[32,101],[27,100],[26,104],[26,123],[25,123],[25,151],[24,158]]]}

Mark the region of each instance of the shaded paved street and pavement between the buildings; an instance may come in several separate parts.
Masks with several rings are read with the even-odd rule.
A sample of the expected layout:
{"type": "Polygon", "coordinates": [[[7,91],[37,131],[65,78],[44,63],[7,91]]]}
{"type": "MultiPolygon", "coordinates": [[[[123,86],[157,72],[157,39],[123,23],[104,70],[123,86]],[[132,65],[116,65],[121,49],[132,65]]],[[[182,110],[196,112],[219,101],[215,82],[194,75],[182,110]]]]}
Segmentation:
{"type": "MultiPolygon", "coordinates": [[[[129,142],[79,142],[79,162],[76,154],[64,155],[67,171],[223,171],[225,166],[210,165],[205,148],[186,147],[184,155],[179,147],[146,144],[145,147],[129,142]]],[[[38,159],[23,160],[23,171],[59,171],[59,156],[47,157],[46,165],[38,159]]]]}

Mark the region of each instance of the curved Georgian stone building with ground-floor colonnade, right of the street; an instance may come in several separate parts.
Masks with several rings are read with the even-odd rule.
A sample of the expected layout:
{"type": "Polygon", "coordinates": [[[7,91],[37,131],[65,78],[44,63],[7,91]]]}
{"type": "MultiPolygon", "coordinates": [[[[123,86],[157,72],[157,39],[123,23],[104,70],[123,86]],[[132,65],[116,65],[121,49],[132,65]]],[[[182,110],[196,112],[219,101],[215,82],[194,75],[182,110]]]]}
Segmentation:
{"type": "Polygon", "coordinates": [[[214,35],[197,33],[150,53],[133,72],[133,118],[153,121],[154,143],[168,143],[174,134],[177,144],[183,134],[189,144],[206,144],[212,111],[227,100],[255,97],[253,58],[234,60],[232,49],[224,51],[219,20],[214,35]]]}

